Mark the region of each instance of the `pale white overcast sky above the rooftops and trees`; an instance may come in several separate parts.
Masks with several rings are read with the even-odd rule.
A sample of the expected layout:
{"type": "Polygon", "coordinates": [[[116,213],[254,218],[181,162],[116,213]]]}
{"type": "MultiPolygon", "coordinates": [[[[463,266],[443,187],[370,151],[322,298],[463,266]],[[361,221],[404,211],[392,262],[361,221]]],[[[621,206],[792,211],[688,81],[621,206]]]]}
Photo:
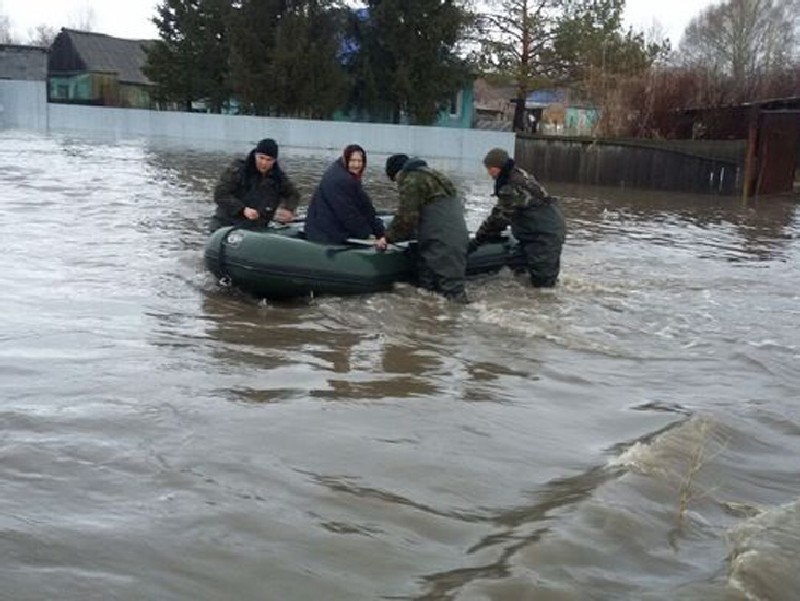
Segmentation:
{"type": "MultiPolygon", "coordinates": [[[[714,0],[628,0],[625,23],[647,32],[653,23],[660,24],[663,34],[678,45],[689,20],[714,0]]],[[[29,38],[28,32],[39,24],[56,29],[77,27],[86,22],[93,30],[121,38],[155,38],[156,27],[150,21],[158,0],[0,0],[0,15],[11,22],[19,41],[29,38]]]]}

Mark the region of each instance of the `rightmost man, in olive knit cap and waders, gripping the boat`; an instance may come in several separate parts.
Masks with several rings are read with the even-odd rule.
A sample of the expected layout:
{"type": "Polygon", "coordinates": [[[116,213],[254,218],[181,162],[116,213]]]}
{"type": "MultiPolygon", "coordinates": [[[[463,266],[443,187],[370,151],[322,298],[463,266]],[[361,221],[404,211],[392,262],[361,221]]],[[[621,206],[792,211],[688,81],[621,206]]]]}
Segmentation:
{"type": "Polygon", "coordinates": [[[497,204],[475,232],[470,251],[510,225],[525,255],[531,283],[536,288],[555,286],[567,230],[556,199],[502,148],[490,150],[483,164],[495,180],[497,204]]]}

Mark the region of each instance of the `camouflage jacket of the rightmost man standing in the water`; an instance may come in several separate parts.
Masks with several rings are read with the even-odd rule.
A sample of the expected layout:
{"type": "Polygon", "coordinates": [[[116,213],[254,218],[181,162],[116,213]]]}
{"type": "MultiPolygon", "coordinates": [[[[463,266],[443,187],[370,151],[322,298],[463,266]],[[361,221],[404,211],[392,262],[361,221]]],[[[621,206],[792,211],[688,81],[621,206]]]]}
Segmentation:
{"type": "Polygon", "coordinates": [[[513,163],[500,173],[495,182],[494,194],[497,196],[497,203],[475,232],[475,239],[479,242],[486,241],[515,220],[522,219],[526,209],[548,206],[555,202],[533,175],[513,163]]]}

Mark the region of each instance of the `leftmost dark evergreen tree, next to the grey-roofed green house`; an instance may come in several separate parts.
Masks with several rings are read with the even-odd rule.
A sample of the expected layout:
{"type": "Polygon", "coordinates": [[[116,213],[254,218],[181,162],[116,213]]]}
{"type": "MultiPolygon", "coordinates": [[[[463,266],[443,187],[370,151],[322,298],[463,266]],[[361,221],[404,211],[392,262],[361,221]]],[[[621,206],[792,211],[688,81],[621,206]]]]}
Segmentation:
{"type": "Polygon", "coordinates": [[[230,98],[228,0],[163,0],[153,22],[159,40],[148,47],[143,71],[156,83],[156,100],[204,100],[219,113],[230,98]]]}

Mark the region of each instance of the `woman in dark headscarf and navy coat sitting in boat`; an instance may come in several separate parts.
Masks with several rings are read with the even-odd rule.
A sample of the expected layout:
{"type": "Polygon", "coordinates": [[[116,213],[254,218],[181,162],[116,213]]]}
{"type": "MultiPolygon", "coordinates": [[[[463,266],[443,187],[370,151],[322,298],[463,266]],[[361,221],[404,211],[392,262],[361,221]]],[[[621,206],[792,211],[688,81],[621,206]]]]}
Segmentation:
{"type": "Polygon", "coordinates": [[[342,244],[348,238],[375,237],[375,246],[386,248],[383,221],[376,215],[361,185],[367,153],[350,144],[325,171],[306,213],[305,234],[312,242],[342,244]]]}

